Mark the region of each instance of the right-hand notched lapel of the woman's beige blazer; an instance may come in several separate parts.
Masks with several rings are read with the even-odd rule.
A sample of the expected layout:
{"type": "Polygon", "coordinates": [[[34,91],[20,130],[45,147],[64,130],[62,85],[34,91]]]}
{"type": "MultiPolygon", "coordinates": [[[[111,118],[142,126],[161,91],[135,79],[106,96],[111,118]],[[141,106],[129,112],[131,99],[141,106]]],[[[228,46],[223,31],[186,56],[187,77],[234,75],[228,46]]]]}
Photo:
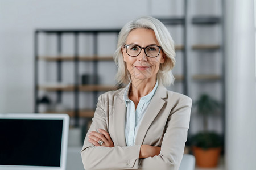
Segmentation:
{"type": "Polygon", "coordinates": [[[150,105],[148,105],[147,111],[144,114],[141,125],[139,126],[135,143],[134,143],[135,145],[142,145],[148,128],[150,127],[155,117],[158,115],[158,113],[162,109],[164,103],[166,103],[166,101],[163,100],[166,97],[167,97],[166,88],[162,84],[159,84],[154,96],[150,101],[150,105]]]}

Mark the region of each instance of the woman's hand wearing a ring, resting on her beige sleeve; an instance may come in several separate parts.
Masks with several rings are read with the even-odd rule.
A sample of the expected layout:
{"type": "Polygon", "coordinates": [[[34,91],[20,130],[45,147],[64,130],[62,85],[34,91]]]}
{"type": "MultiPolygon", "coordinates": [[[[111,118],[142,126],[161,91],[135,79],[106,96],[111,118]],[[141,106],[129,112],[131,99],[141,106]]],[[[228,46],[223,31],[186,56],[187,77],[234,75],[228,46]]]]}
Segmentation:
{"type": "Polygon", "coordinates": [[[105,147],[114,147],[114,143],[108,133],[108,131],[105,131],[103,129],[98,129],[100,133],[97,131],[90,131],[88,137],[89,142],[92,143],[94,146],[105,146],[105,147]],[[104,143],[100,145],[98,141],[102,140],[104,143]]]}

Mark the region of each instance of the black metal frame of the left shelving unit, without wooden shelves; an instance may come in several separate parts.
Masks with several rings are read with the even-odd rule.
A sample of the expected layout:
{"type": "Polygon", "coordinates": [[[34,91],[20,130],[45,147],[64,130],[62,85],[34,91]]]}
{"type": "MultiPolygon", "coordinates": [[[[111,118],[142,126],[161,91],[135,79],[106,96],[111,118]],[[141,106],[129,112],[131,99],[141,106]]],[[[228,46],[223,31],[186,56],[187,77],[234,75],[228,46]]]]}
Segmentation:
{"type": "MultiPolygon", "coordinates": [[[[38,54],[38,46],[39,46],[39,33],[47,33],[47,34],[56,34],[57,35],[57,54],[60,56],[61,51],[62,51],[62,44],[61,44],[61,38],[64,33],[73,33],[75,37],[75,43],[74,43],[74,49],[75,49],[75,54],[74,54],[74,78],[75,78],[75,83],[74,85],[74,115],[75,115],[75,126],[78,126],[79,124],[79,33],[90,33],[93,34],[93,53],[94,55],[97,56],[97,35],[98,33],[119,33],[120,29],[36,29],[34,33],[34,112],[39,113],[38,109],[38,97],[39,97],[39,83],[38,83],[38,59],[39,59],[39,54],[38,54]]],[[[62,67],[61,59],[58,59],[55,61],[57,66],[57,82],[61,82],[62,80],[62,67]]],[[[98,61],[93,60],[93,71],[94,74],[98,74],[98,61]]],[[[63,91],[57,90],[57,102],[61,102],[62,98],[62,93],[63,91]]],[[[97,103],[97,91],[93,92],[94,95],[94,103],[97,103]]]]}

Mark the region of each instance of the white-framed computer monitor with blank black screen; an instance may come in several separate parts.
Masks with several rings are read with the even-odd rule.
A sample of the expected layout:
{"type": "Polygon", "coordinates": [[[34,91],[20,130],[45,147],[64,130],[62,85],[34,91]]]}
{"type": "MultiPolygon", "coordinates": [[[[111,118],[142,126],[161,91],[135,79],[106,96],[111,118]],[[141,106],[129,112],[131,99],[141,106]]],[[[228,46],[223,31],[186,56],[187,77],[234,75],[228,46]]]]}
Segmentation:
{"type": "Polygon", "coordinates": [[[1,170],[65,170],[67,114],[0,114],[1,170]]]}

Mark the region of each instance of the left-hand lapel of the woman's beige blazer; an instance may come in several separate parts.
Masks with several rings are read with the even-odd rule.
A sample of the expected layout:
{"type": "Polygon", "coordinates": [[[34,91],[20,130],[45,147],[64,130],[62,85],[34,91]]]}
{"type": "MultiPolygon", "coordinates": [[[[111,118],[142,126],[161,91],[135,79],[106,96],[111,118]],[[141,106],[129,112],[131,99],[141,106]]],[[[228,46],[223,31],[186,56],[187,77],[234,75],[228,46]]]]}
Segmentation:
{"type": "Polygon", "coordinates": [[[123,100],[124,90],[114,97],[114,125],[115,128],[115,141],[118,146],[126,146],[125,141],[125,116],[126,105],[123,100]]]}

